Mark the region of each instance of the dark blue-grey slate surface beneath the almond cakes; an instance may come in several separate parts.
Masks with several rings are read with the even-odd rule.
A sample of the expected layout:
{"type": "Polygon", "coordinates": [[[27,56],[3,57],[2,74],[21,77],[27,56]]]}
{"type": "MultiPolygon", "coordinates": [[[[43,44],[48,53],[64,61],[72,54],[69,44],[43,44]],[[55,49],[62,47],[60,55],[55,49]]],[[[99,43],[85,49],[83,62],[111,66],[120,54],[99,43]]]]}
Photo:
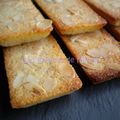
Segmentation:
{"type": "MultiPolygon", "coordinates": [[[[72,57],[61,39],[52,33],[67,57],[72,57]]],[[[0,120],[120,120],[120,79],[92,85],[75,62],[83,88],[70,95],[26,109],[12,109],[0,48],[0,120]]]]}

